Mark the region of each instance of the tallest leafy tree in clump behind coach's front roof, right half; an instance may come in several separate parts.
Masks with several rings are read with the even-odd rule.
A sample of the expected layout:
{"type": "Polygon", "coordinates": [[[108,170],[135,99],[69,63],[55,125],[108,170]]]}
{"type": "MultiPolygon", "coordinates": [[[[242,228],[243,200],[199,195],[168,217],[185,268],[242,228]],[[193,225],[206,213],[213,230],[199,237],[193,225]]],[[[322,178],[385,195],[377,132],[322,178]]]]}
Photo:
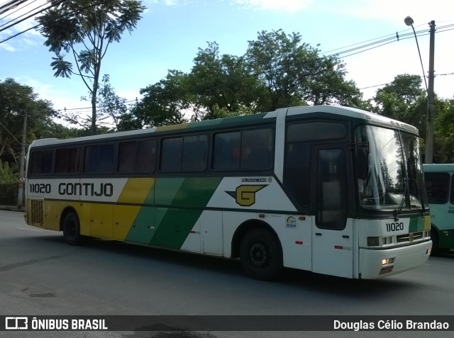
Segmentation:
{"type": "Polygon", "coordinates": [[[345,81],[345,65],[301,40],[299,33],[262,30],[248,42],[245,57],[267,91],[267,106],[261,110],[310,103],[364,106],[355,83],[345,81]]]}

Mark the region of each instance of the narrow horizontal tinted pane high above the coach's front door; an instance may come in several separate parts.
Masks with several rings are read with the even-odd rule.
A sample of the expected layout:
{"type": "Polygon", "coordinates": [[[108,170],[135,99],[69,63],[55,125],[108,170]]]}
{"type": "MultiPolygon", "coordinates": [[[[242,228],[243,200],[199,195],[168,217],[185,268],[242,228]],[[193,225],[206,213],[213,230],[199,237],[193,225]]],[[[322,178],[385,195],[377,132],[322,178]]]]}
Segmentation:
{"type": "Polygon", "coordinates": [[[343,123],[305,122],[287,128],[287,142],[333,140],[346,135],[347,128],[343,123]]]}

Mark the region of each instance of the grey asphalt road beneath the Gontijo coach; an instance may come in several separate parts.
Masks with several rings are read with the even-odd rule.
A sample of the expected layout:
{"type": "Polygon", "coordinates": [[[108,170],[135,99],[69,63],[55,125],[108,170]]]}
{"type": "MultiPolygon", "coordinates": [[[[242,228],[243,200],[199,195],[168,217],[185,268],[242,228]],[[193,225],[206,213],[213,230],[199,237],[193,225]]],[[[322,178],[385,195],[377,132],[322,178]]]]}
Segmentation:
{"type": "MultiPolygon", "coordinates": [[[[454,315],[454,258],[376,281],[284,271],[247,278],[238,261],[89,240],[0,211],[0,315],[454,315]]],[[[8,334],[6,334],[8,333],[8,334]]],[[[14,337],[431,337],[431,332],[14,332],[14,337]]],[[[433,334],[433,332],[432,332],[433,334]]],[[[453,332],[436,332],[452,337],[453,332]]],[[[0,332],[1,337],[13,337],[0,332]]]]}

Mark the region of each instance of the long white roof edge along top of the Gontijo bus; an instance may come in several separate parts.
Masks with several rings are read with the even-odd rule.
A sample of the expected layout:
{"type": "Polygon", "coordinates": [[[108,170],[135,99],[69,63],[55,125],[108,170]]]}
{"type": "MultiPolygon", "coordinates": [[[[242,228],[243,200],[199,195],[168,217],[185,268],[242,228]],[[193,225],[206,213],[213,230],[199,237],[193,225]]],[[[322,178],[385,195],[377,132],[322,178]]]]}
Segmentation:
{"type": "Polygon", "coordinates": [[[412,125],[407,125],[406,123],[387,118],[375,113],[370,113],[368,111],[362,111],[357,108],[350,108],[345,106],[296,106],[290,108],[279,108],[276,111],[271,111],[268,113],[256,113],[248,116],[235,116],[229,118],[219,118],[216,120],[204,120],[192,123],[182,123],[179,125],[164,125],[162,127],[153,127],[148,129],[139,129],[139,130],[129,130],[124,132],[116,132],[109,134],[101,135],[92,135],[92,136],[83,136],[75,137],[69,139],[56,139],[56,138],[47,138],[35,140],[32,142],[31,146],[45,146],[45,145],[55,145],[55,144],[64,144],[70,142],[84,142],[90,140],[107,140],[109,138],[117,137],[128,137],[128,136],[140,136],[147,135],[151,133],[159,133],[171,130],[184,130],[192,128],[209,128],[209,127],[221,127],[221,125],[238,125],[245,123],[245,121],[253,120],[263,120],[266,118],[277,118],[280,115],[295,116],[303,114],[313,114],[313,113],[328,113],[336,116],[348,116],[350,118],[360,118],[364,120],[370,120],[371,122],[380,123],[382,125],[389,125],[389,128],[397,128],[405,131],[409,131],[414,134],[418,134],[418,129],[412,125]]]}

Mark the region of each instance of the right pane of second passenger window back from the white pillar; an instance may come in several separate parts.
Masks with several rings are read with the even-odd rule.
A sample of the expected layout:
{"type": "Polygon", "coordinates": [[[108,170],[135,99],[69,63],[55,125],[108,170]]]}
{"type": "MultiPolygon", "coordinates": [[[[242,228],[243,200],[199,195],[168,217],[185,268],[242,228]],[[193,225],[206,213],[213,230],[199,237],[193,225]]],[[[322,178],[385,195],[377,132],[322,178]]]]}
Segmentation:
{"type": "Polygon", "coordinates": [[[186,136],[183,145],[183,170],[201,171],[206,168],[208,137],[206,135],[186,136]]]}

